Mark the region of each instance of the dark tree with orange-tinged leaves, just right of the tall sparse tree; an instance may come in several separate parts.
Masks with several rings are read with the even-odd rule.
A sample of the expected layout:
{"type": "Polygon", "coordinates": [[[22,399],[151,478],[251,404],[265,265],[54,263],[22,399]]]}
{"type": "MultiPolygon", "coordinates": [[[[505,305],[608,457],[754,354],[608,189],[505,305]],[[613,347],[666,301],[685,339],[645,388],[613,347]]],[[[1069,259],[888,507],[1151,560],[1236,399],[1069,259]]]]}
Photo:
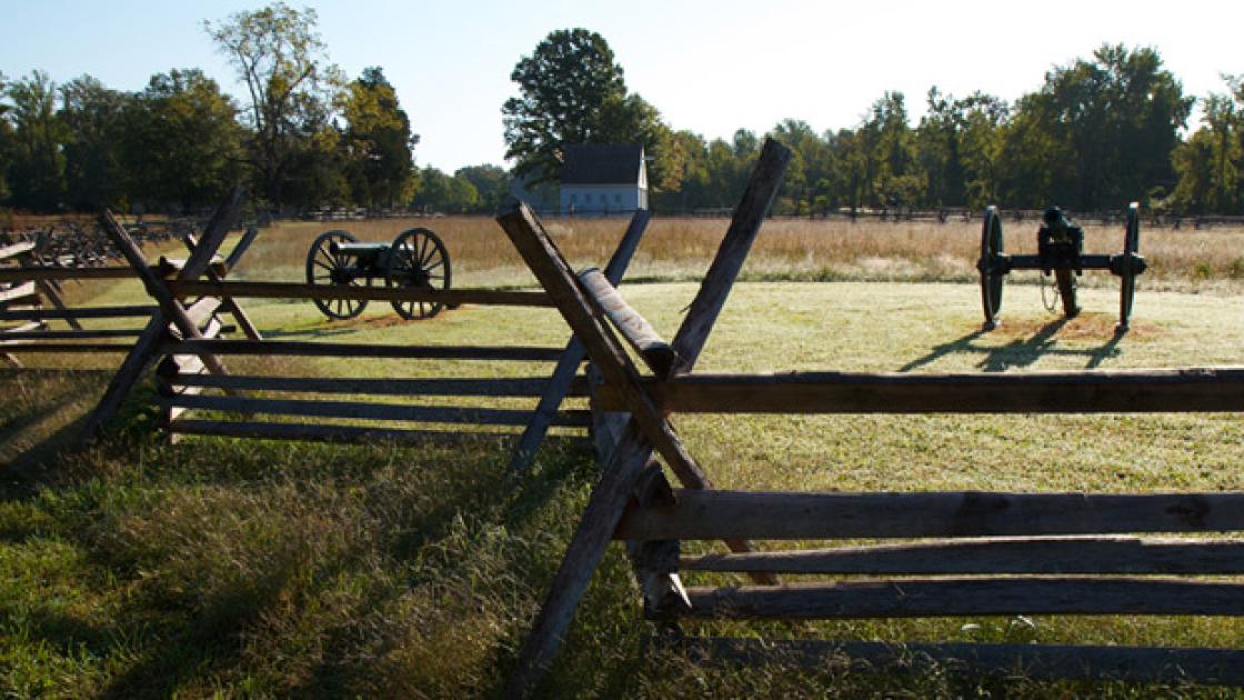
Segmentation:
{"type": "Polygon", "coordinates": [[[393,207],[414,193],[414,158],[419,142],[397,92],[378,67],[364,69],[342,96],[347,127],[343,147],[355,201],[372,208],[393,207]]]}

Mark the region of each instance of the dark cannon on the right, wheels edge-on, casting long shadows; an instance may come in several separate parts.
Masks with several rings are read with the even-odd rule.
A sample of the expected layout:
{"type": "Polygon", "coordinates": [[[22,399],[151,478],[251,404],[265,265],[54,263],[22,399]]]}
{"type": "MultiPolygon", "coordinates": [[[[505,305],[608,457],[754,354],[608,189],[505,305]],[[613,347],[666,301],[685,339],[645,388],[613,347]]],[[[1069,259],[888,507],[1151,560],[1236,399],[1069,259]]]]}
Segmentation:
{"type": "Polygon", "coordinates": [[[1057,207],[1050,207],[1041,217],[1036,233],[1036,255],[1008,255],[1003,245],[1003,223],[998,207],[985,209],[980,229],[980,303],[985,311],[985,329],[998,328],[998,311],[1003,305],[1003,281],[1011,270],[1041,270],[1054,275],[1057,295],[1067,318],[1080,313],[1076,301],[1076,278],[1084,270],[1110,270],[1121,280],[1118,303],[1118,333],[1126,333],[1132,316],[1132,299],[1136,296],[1136,277],[1147,268],[1141,255],[1141,209],[1132,202],[1127,207],[1123,228],[1123,252],[1118,255],[1086,255],[1084,230],[1072,223],[1057,207]]]}

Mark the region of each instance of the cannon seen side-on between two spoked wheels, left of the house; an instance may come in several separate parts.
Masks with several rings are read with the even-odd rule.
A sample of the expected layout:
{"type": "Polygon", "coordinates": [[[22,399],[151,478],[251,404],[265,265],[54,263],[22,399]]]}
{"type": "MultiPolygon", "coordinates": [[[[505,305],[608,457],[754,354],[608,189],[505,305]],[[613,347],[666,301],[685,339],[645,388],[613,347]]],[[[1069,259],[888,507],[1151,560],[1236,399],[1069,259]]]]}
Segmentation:
{"type": "MultiPolygon", "coordinates": [[[[393,243],[360,243],[346,230],[320,234],[307,252],[307,284],[371,286],[383,279],[386,286],[449,289],[449,253],[440,237],[425,228],[398,234],[393,243]]],[[[393,301],[393,310],[408,320],[440,313],[439,301],[393,301]]],[[[316,299],[315,305],[330,319],[352,319],[367,308],[364,299],[316,299]]]]}

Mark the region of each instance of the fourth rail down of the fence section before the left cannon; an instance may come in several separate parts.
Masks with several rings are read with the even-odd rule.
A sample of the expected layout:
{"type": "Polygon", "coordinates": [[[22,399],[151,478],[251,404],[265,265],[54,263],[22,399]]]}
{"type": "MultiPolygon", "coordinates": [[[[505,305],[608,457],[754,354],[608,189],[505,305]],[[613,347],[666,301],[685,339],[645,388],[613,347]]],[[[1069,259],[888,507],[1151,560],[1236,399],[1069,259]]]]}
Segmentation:
{"type": "MultiPolygon", "coordinates": [[[[529,411],[518,409],[479,409],[470,406],[411,406],[402,404],[364,404],[358,401],[322,401],[296,399],[249,399],[239,396],[177,396],[163,404],[233,411],[239,414],[271,414],[284,416],[318,416],[330,419],[356,419],[373,421],[418,421],[474,425],[526,425],[529,411]]],[[[560,411],[556,426],[586,427],[587,411],[560,411]]]]}

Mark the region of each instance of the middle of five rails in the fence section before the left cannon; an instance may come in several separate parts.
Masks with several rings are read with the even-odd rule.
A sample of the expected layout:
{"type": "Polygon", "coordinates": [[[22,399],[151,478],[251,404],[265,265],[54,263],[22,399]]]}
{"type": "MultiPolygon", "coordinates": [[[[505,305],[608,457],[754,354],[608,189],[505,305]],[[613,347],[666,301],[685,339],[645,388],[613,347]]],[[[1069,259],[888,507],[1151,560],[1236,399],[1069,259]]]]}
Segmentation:
{"type": "MultiPolygon", "coordinates": [[[[178,384],[245,391],[301,391],[309,394],[377,394],[387,396],[540,396],[547,387],[545,377],[518,379],[377,379],[377,377],[302,377],[246,375],[184,375],[178,384]]],[[[572,382],[571,396],[583,396],[582,377],[572,382]]]]}

